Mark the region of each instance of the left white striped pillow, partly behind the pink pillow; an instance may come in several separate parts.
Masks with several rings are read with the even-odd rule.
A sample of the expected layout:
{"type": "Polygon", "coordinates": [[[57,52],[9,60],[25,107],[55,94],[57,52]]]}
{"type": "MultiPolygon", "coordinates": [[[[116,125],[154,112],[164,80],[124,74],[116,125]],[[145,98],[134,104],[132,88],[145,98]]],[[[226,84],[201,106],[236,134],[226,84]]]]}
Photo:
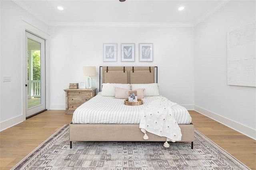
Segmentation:
{"type": "Polygon", "coordinates": [[[119,87],[122,89],[130,90],[130,84],[120,84],[120,83],[103,83],[102,84],[102,96],[114,97],[115,89],[114,87],[119,87]]]}

